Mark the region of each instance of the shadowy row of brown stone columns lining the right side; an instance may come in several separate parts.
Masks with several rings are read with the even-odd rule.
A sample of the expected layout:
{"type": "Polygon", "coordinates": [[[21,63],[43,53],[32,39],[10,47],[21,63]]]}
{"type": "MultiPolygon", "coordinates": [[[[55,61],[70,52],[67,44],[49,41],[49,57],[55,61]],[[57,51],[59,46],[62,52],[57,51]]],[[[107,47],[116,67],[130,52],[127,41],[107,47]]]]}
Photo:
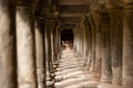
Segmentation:
{"type": "Polygon", "coordinates": [[[73,30],[74,47],[80,56],[88,53],[85,67],[101,82],[132,88],[132,4],[105,8],[84,13],[73,30]]]}

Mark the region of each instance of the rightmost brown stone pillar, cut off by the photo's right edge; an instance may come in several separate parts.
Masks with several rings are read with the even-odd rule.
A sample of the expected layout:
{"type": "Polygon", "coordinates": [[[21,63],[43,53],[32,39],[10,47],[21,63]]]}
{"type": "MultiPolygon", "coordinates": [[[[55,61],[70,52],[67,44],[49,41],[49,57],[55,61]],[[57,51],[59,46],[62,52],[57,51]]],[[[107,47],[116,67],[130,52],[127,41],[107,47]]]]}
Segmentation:
{"type": "MultiPolygon", "coordinates": [[[[125,1],[125,0],[123,0],[125,1]]],[[[123,88],[133,88],[133,0],[123,11],[123,88]]]]}

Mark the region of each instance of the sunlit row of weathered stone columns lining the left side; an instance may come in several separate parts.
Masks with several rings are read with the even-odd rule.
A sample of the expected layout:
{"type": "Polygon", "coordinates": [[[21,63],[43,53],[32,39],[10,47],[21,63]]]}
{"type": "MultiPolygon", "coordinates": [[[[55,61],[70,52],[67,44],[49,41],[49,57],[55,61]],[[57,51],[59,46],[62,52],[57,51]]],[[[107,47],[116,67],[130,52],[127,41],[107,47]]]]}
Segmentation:
{"type": "Polygon", "coordinates": [[[34,16],[33,7],[32,2],[13,3],[10,0],[0,0],[0,86],[2,88],[53,87],[52,64],[57,61],[53,62],[52,57],[58,57],[60,52],[57,50],[60,48],[60,37],[57,34],[60,28],[52,19],[34,16]]]}

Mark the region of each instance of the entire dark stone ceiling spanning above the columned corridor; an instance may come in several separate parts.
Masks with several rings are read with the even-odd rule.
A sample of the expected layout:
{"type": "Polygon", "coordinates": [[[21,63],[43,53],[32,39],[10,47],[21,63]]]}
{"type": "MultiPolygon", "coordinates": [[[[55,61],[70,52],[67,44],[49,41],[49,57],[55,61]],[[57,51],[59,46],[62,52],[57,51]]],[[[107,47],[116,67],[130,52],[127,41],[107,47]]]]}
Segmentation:
{"type": "Polygon", "coordinates": [[[122,0],[35,0],[35,3],[37,16],[58,15],[60,24],[69,29],[78,24],[84,13],[123,6],[122,0]]]}

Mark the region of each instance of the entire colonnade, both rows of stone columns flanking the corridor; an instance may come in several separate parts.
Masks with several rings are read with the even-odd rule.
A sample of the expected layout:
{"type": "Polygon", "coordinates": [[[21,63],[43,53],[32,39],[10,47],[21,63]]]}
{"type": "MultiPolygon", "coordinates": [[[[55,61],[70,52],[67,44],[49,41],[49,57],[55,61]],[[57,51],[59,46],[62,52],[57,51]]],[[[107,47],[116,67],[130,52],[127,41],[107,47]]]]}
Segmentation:
{"type": "MultiPolygon", "coordinates": [[[[104,8],[85,13],[73,29],[74,50],[101,82],[133,88],[133,1],[104,8]]],[[[53,87],[61,31],[50,11],[37,18],[32,1],[0,0],[0,87],[53,87]]]]}

